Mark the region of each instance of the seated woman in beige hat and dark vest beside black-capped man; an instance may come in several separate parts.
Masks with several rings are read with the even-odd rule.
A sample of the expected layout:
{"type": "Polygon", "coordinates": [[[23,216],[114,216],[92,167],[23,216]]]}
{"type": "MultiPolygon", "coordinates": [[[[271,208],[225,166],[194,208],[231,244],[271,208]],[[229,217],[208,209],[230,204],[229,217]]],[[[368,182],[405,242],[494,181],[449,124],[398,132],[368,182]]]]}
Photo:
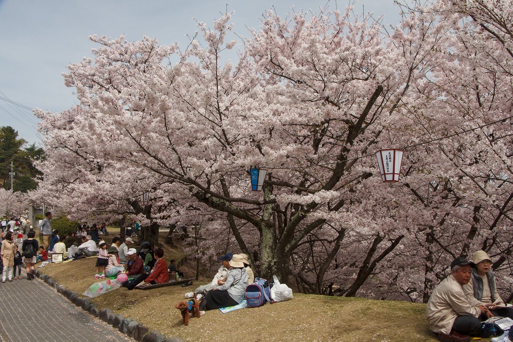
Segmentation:
{"type": "Polygon", "coordinates": [[[463,285],[463,291],[471,306],[484,305],[494,316],[513,318],[513,309],[506,307],[497,292],[495,274],[491,270],[492,261],[485,251],[476,251],[472,255],[476,268],[471,269],[468,284],[463,285]]]}

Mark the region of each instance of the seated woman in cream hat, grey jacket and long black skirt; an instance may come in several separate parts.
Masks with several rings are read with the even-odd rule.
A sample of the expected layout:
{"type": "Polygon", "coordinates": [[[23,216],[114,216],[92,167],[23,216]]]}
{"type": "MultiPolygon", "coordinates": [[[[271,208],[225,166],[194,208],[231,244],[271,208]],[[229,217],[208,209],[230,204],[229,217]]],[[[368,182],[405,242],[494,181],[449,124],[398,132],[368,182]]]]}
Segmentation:
{"type": "Polygon", "coordinates": [[[244,267],[243,258],[239,254],[233,254],[229,261],[231,266],[228,277],[223,285],[213,287],[208,291],[200,303],[200,311],[221,309],[240,304],[245,297],[248,286],[248,273],[244,267]]]}

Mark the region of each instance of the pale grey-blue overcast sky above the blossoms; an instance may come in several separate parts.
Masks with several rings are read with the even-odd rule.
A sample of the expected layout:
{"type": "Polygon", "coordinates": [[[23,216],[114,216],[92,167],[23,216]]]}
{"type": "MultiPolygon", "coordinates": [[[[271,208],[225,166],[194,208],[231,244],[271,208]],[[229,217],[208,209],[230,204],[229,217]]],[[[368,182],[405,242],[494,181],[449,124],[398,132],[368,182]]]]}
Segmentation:
{"type": "MultiPolygon", "coordinates": [[[[64,86],[62,73],[70,63],[90,56],[91,34],[137,41],[143,35],[160,44],[187,43],[185,34],[197,29],[192,18],[212,27],[226,9],[227,0],[132,1],[132,0],[0,0],[0,126],[12,126],[29,143],[41,144],[38,119],[19,106],[5,102],[7,97],[30,108],[53,112],[76,104],[72,88],[64,86]]],[[[274,5],[286,16],[295,10],[317,10],[327,0],[232,1],[234,32],[248,36],[246,26],[258,28],[261,14],[274,5]]],[[[331,0],[329,7],[343,9],[347,0],[331,0]]],[[[399,8],[393,0],[360,0],[359,12],[379,16],[384,23],[399,21],[399,8]]]]}

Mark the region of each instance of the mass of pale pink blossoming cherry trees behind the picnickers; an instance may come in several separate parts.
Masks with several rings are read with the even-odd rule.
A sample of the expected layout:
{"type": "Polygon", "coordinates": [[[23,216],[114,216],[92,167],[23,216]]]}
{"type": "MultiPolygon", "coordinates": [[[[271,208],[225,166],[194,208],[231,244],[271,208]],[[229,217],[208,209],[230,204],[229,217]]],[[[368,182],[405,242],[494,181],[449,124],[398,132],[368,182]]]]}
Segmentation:
{"type": "Polygon", "coordinates": [[[231,13],[185,48],[91,36],[94,59],[64,75],[80,105],[37,112],[37,195],[141,219],[155,243],[159,226],[201,227],[198,267],[241,250],[308,293],[427,300],[452,257],[480,248],[510,271],[510,22],[469,8],[404,7],[388,30],[352,7],[268,11],[227,62],[231,13]],[[390,147],[407,152],[397,184],[373,157],[390,147]],[[252,166],[268,170],[261,192],[252,166]]]}

